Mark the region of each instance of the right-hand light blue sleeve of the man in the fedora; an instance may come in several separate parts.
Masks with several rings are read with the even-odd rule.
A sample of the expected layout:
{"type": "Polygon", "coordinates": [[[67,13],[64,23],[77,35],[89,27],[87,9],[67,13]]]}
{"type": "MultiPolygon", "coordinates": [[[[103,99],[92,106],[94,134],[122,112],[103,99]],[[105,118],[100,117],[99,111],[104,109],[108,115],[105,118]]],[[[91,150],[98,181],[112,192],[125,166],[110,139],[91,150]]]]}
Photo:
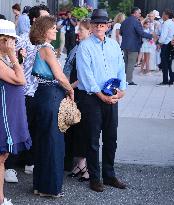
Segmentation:
{"type": "Polygon", "coordinates": [[[123,59],[123,53],[120,49],[120,46],[117,45],[117,52],[118,52],[118,79],[121,80],[120,82],[120,90],[126,90],[127,88],[127,82],[126,82],[126,73],[125,73],[125,63],[123,59]]]}

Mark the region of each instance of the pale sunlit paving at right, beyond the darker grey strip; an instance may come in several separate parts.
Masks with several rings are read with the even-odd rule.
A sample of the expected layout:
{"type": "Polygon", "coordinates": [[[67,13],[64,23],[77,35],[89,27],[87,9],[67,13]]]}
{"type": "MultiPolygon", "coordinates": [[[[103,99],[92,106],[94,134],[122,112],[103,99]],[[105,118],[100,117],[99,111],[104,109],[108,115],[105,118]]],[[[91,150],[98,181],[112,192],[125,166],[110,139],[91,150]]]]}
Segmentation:
{"type": "Polygon", "coordinates": [[[138,86],[128,86],[119,104],[120,117],[174,119],[174,86],[156,86],[162,81],[161,72],[142,75],[135,69],[134,81],[138,86]]]}

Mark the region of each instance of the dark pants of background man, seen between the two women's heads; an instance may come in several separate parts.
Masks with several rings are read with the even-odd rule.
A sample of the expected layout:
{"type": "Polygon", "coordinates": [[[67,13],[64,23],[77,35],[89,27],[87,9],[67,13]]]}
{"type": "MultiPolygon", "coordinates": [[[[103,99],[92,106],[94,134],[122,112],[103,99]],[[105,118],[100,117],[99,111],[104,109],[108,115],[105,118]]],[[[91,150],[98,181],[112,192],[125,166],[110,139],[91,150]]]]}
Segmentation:
{"type": "Polygon", "coordinates": [[[66,32],[65,33],[65,48],[67,50],[67,55],[69,55],[70,51],[76,45],[76,34],[74,32],[66,32]]]}

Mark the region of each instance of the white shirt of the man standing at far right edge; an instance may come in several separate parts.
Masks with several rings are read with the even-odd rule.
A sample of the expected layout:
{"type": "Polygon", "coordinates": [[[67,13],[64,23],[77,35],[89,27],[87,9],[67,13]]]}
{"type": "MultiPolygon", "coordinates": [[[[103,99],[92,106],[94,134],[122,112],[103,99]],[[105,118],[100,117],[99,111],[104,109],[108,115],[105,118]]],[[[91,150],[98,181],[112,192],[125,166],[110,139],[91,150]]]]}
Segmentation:
{"type": "Polygon", "coordinates": [[[174,37],[174,22],[172,19],[164,21],[162,24],[159,43],[167,45],[174,37]]]}

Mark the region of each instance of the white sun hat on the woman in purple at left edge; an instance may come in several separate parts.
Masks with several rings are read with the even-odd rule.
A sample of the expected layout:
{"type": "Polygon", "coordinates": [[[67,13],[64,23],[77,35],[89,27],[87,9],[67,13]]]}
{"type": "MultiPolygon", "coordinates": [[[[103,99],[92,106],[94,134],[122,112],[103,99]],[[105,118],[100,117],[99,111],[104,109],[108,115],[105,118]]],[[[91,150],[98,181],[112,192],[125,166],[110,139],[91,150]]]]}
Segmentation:
{"type": "Polygon", "coordinates": [[[16,35],[15,24],[4,19],[0,19],[0,34],[19,38],[19,36],[16,35]]]}

